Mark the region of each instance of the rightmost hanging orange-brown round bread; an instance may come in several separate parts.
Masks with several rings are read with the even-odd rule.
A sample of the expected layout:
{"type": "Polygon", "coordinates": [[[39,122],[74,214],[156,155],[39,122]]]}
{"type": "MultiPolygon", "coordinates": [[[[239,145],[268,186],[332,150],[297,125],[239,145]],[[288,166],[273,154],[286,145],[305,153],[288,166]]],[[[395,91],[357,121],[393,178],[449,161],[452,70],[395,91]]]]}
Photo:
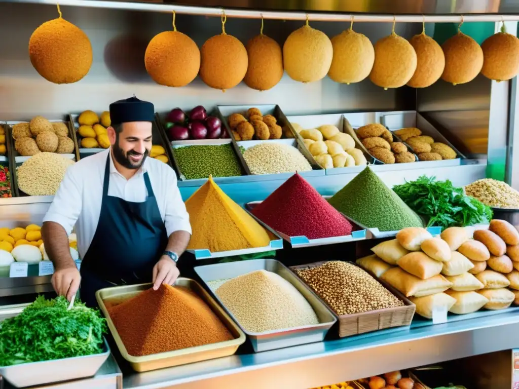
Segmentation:
{"type": "Polygon", "coordinates": [[[519,39],[508,34],[506,27],[489,36],[481,44],[483,67],[481,74],[491,80],[509,80],[519,72],[519,39]]]}

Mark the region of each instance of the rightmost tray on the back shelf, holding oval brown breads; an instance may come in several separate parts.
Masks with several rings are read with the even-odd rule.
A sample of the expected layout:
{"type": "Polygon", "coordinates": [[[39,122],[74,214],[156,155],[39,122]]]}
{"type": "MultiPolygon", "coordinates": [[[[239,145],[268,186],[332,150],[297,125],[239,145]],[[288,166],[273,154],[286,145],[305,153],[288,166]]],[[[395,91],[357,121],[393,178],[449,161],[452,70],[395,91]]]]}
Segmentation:
{"type": "MultiPolygon", "coordinates": [[[[414,110],[380,113],[380,123],[387,127],[389,131],[393,133],[393,135],[395,135],[394,131],[397,131],[401,128],[416,127],[421,130],[422,135],[431,136],[435,142],[445,143],[446,145],[452,147],[454,151],[456,151],[457,158],[455,159],[445,159],[442,161],[421,161],[422,163],[427,163],[427,166],[430,168],[434,168],[436,166],[458,166],[461,164],[461,159],[465,159],[465,156],[463,156],[452,145],[452,143],[450,143],[447,138],[440,133],[440,131],[436,130],[428,120],[426,120],[423,116],[420,115],[420,113],[414,110]]],[[[413,148],[407,143],[405,143],[405,145],[413,150],[413,148]]]]}

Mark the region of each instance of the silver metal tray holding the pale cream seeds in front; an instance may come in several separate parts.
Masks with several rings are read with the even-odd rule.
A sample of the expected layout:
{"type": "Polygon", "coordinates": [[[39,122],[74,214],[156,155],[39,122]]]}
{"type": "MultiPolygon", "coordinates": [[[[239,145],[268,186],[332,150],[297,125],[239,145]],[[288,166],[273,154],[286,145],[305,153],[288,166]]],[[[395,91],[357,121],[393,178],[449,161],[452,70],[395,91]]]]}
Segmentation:
{"type": "Polygon", "coordinates": [[[298,277],[275,259],[250,259],[246,261],[216,263],[215,265],[204,265],[195,267],[195,272],[199,275],[216,301],[218,301],[225,311],[240,326],[241,330],[251,340],[255,352],[282,349],[299,344],[321,342],[326,333],[337,321],[333,312],[326,307],[321,299],[298,277]],[[211,290],[207,284],[209,281],[232,279],[242,274],[247,274],[255,270],[267,270],[274,272],[286,281],[290,282],[310,303],[319,318],[320,324],[308,325],[294,328],[279,329],[267,332],[249,332],[245,330],[236,320],[234,315],[225,307],[223,302],[216,296],[215,291],[211,290]]]}

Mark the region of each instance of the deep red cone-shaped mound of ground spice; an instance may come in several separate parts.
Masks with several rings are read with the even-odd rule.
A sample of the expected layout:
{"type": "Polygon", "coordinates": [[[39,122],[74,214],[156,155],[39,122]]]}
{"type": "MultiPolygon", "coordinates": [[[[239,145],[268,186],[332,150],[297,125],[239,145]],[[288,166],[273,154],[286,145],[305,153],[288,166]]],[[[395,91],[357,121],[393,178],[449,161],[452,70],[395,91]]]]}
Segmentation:
{"type": "Polygon", "coordinates": [[[340,237],[350,235],[352,230],[351,223],[297,173],[254,207],[252,213],[289,237],[340,237]]]}

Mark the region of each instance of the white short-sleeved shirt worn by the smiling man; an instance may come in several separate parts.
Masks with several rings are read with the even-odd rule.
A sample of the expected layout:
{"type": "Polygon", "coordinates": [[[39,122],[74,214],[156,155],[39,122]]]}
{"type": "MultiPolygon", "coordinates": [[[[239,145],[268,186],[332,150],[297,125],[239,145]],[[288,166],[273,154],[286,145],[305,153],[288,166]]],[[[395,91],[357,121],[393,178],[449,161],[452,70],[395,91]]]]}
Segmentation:
{"type": "MultiPolygon", "coordinates": [[[[104,171],[109,153],[110,148],[71,165],[43,219],[60,224],[67,235],[76,227],[80,258],[84,258],[99,223],[104,171]]],[[[108,196],[132,202],[145,201],[147,190],[144,172],[148,173],[168,237],[175,231],[191,233],[189,214],[176,185],[176,174],[166,163],[148,157],[141,169],[127,180],[117,171],[111,156],[108,196]]],[[[110,241],[107,240],[106,244],[110,244],[110,241]]]]}

